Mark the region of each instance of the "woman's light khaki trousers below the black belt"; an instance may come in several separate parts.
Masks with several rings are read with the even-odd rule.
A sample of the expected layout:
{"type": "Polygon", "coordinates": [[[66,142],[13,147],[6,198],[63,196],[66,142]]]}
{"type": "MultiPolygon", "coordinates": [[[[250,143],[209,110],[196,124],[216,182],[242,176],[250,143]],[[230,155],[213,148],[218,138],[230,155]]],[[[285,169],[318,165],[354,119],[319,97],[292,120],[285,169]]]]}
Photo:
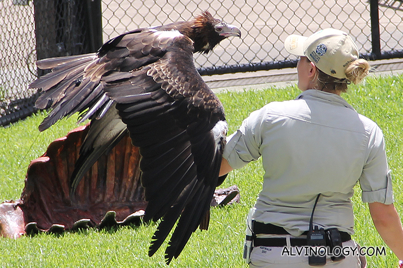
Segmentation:
{"type": "MultiPolygon", "coordinates": [[[[353,240],[343,243],[343,247],[359,248],[359,245],[353,240]]],[[[302,254],[290,254],[285,251],[284,247],[253,247],[250,254],[249,267],[266,267],[266,268],[312,268],[308,264],[308,256],[302,254]]],[[[301,252],[301,251],[300,251],[301,252]]],[[[321,266],[325,268],[364,268],[366,267],[365,256],[358,256],[357,254],[348,254],[346,258],[340,261],[331,261],[330,257],[326,259],[326,265],[321,266]]],[[[318,266],[316,266],[318,267],[318,266]]]]}

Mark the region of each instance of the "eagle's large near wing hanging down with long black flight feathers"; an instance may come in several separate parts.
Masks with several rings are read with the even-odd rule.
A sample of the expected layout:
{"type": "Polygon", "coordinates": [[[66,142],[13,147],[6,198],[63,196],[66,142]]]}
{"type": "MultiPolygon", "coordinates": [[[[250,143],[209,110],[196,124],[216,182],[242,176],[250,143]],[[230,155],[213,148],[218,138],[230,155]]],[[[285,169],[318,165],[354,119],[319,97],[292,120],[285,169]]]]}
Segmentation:
{"type": "MultiPolygon", "coordinates": [[[[119,72],[111,72],[105,77],[104,90],[117,103],[133,145],[140,147],[142,185],[148,201],[145,220],[163,219],[153,236],[150,255],[182,215],[166,250],[169,263],[210,207],[226,123],[222,104],[194,67],[191,40],[177,32],[153,35],[166,53],[123,80],[111,79],[121,77],[119,72]]],[[[140,45],[132,42],[135,47],[140,45]]]]}

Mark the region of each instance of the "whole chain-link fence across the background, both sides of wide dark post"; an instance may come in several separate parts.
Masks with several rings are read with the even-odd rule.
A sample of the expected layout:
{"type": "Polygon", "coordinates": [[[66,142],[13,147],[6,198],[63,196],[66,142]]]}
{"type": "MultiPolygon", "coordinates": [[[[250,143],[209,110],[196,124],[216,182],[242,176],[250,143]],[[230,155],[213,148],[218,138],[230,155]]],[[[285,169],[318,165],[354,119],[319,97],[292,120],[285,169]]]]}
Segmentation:
{"type": "Polygon", "coordinates": [[[31,101],[26,106],[32,109],[35,93],[27,87],[36,77],[35,59],[93,52],[121,33],[189,20],[204,10],[238,26],[242,38],[224,40],[209,55],[195,55],[201,74],[293,67],[296,57],[284,50],[284,39],[327,27],[353,36],[362,57],[403,57],[402,2],[0,0],[0,122],[13,122],[13,111],[21,114],[19,100],[31,101]]]}

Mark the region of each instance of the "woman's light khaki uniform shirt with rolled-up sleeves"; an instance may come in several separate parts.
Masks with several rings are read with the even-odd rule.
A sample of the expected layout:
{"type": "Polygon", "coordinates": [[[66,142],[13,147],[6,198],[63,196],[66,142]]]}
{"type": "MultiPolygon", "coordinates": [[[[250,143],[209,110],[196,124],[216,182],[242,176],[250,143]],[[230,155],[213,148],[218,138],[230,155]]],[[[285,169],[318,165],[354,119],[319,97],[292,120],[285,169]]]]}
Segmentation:
{"type": "Polygon", "coordinates": [[[227,138],[232,168],[262,156],[263,189],[252,218],[299,236],[313,223],[354,233],[350,198],[360,182],[363,202],[393,203],[383,134],[342,97],[307,90],[296,100],[254,111],[227,138]]]}

